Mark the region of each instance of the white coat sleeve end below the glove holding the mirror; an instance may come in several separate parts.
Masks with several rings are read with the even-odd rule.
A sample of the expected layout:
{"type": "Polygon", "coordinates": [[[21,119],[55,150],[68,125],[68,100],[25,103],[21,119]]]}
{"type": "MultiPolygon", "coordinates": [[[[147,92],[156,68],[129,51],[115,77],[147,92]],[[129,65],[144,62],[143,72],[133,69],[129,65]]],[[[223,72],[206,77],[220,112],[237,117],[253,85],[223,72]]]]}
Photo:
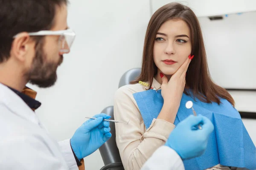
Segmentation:
{"type": "Polygon", "coordinates": [[[159,147],[141,170],[185,170],[180,156],[167,146],[159,147]]]}

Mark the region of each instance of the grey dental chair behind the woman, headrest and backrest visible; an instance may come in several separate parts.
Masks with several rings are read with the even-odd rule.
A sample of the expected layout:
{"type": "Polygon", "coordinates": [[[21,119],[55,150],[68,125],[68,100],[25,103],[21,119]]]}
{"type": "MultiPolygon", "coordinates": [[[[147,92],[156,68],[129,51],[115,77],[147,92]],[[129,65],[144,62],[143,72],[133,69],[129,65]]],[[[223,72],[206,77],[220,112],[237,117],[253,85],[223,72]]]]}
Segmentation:
{"type": "MultiPolygon", "coordinates": [[[[122,75],[118,88],[130,84],[131,81],[135,80],[137,77],[140,76],[141,68],[133,68],[125,72],[122,75]]],[[[105,113],[111,116],[111,120],[114,119],[114,109],[113,106],[108,106],[102,110],[101,113],[105,113]]],[[[116,129],[115,123],[110,123],[111,128],[111,139],[109,139],[105,144],[103,144],[99,148],[99,152],[102,156],[102,160],[104,162],[104,167],[100,170],[124,170],[122,165],[122,161],[119,155],[119,150],[116,146],[116,129]]]]}

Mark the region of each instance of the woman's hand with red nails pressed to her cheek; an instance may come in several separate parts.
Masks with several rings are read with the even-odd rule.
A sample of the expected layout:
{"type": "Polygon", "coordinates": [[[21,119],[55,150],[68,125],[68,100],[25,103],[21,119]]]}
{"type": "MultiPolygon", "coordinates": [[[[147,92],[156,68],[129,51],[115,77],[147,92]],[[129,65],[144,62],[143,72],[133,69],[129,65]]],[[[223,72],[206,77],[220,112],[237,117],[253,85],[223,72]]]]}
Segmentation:
{"type": "MultiPolygon", "coordinates": [[[[175,72],[175,74],[172,75],[169,82],[167,77],[164,76],[162,73],[160,73],[160,77],[162,78],[162,81],[163,81],[161,85],[161,89],[162,89],[161,94],[164,100],[163,102],[163,109],[165,110],[164,113],[167,112],[167,114],[169,115],[171,113],[174,116],[174,119],[180,107],[180,100],[186,85],[186,71],[189,68],[190,62],[191,62],[191,59],[189,56],[189,58],[186,59],[186,61],[175,72]]],[[[173,119],[173,116],[172,116],[172,119],[173,119]]]]}

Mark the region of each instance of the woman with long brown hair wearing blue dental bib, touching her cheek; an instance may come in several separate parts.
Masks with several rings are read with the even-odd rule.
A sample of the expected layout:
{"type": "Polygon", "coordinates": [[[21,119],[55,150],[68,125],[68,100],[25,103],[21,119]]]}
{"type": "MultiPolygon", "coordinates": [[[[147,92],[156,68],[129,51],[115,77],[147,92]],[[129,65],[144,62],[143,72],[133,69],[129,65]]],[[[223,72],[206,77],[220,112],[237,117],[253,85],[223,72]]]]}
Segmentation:
{"type": "Polygon", "coordinates": [[[169,3],[154,13],[140,77],[119,88],[114,100],[115,119],[129,120],[128,125],[116,124],[126,170],[140,170],[175,125],[192,114],[184,108],[189,100],[197,113],[211,119],[215,131],[203,156],[183,160],[186,170],[256,168],[255,146],[233,108],[233,98],[209,76],[201,28],[187,6],[169,3]]]}

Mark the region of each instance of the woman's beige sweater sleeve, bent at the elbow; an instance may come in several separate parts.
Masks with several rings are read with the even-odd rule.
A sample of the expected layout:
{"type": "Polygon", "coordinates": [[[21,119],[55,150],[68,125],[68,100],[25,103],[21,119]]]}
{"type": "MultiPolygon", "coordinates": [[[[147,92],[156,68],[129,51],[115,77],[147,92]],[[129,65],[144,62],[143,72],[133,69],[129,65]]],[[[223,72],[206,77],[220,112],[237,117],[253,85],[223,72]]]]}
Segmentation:
{"type": "Polygon", "coordinates": [[[136,85],[119,88],[114,98],[114,119],[128,122],[116,124],[116,144],[125,170],[140,170],[145,161],[163,145],[171,131],[172,123],[154,119],[146,130],[132,94],[138,92],[136,85]],[[134,89],[135,88],[135,89],[134,89]]]}

